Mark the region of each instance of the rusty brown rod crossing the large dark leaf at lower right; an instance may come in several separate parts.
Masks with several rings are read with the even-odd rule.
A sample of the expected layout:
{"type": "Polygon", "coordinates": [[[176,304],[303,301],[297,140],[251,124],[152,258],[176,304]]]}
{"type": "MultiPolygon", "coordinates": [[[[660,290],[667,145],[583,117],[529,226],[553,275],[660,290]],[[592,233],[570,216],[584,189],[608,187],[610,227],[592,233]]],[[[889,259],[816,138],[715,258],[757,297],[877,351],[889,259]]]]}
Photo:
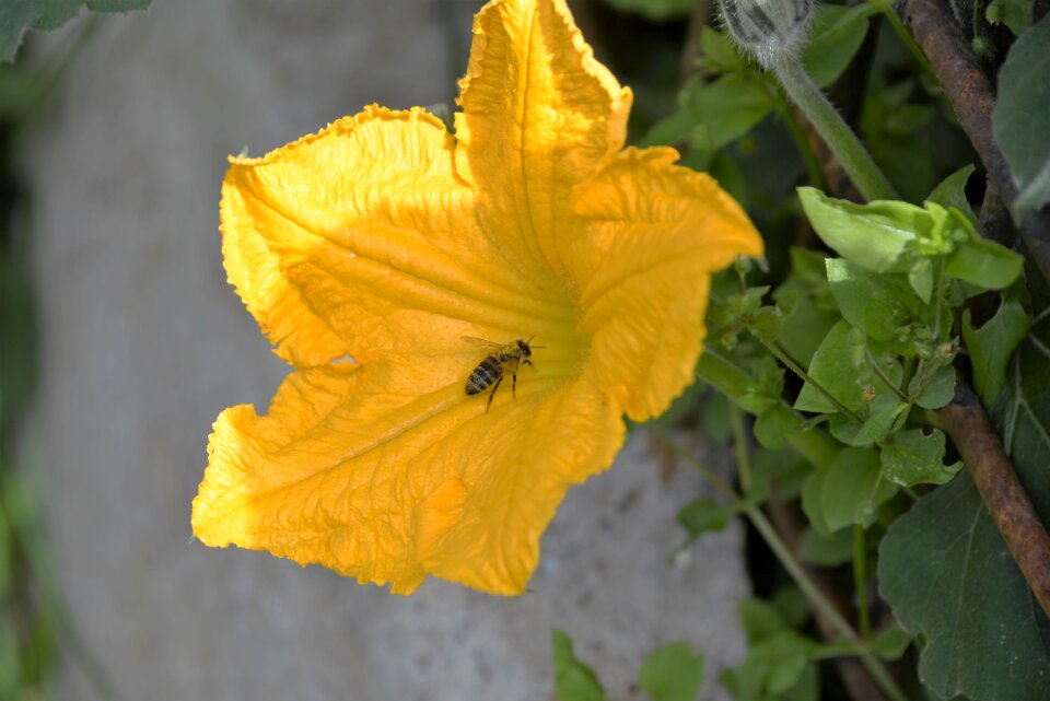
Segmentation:
{"type": "Polygon", "coordinates": [[[1050,616],[1050,535],[1039,521],[981,402],[960,381],[956,384],[955,399],[938,413],[1010,553],[1042,610],[1050,616]]]}

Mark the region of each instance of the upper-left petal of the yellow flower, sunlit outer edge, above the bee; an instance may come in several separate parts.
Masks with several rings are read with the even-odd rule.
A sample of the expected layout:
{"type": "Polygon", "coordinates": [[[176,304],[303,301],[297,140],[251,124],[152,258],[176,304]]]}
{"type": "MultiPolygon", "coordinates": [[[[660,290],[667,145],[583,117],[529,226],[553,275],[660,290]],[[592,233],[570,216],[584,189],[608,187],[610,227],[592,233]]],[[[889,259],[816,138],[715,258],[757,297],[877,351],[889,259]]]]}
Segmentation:
{"type": "Polygon", "coordinates": [[[512,274],[480,233],[454,153],[422,109],[372,106],[264,159],[231,159],[226,271],[282,358],[307,366],[441,353],[464,334],[558,335],[564,304],[512,274]]]}

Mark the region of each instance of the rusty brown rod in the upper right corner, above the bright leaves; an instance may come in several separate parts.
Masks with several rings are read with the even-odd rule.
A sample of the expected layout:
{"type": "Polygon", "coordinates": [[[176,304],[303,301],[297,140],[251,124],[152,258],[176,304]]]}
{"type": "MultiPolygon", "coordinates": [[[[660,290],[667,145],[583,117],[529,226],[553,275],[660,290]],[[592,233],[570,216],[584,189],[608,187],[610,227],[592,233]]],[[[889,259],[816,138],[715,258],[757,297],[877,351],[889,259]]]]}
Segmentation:
{"type": "MultiPolygon", "coordinates": [[[[908,0],[905,15],[992,185],[1012,203],[1017,187],[992,135],[995,91],[969,42],[942,0],[908,0]]],[[[1020,222],[1020,234],[1042,276],[1050,280],[1050,210],[1029,210],[1020,222]]]]}

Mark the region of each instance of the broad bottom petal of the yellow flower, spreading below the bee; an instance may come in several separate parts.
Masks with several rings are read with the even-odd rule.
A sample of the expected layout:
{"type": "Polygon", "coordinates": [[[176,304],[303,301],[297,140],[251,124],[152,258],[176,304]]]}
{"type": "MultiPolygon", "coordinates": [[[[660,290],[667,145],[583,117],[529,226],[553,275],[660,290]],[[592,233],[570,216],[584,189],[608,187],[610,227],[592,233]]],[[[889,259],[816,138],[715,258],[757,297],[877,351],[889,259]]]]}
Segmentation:
{"type": "Polygon", "coordinates": [[[467,397],[455,362],[393,357],[298,370],[268,416],[215,422],[194,501],[209,546],[265,549],[407,594],[425,574],[521,593],[565,490],[623,439],[588,376],[535,354],[516,398],[467,397]]]}

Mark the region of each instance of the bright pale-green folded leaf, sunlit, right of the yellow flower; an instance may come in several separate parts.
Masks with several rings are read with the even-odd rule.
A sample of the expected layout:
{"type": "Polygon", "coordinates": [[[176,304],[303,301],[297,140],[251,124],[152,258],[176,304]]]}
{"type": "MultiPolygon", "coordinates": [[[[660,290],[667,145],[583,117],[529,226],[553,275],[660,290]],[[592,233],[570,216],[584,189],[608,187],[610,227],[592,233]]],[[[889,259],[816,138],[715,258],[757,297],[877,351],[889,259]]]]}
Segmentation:
{"type": "Polygon", "coordinates": [[[812,187],[800,187],[798,199],[820,239],[872,272],[906,272],[899,264],[908,244],[935,224],[928,210],[907,202],[854,205],[812,187]]]}

